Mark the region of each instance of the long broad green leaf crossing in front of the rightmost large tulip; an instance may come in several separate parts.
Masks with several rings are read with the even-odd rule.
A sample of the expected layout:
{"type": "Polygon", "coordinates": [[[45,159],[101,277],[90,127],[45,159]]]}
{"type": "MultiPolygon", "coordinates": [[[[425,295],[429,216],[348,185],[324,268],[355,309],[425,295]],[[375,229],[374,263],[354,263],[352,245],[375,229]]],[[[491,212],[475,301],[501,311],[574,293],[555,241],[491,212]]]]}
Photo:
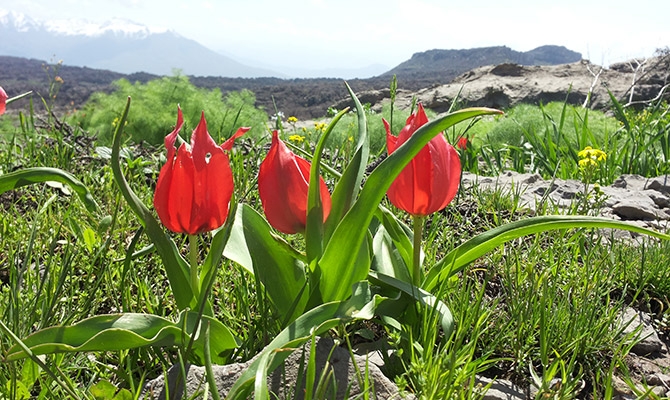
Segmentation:
{"type": "Polygon", "coordinates": [[[445,129],[470,118],[499,113],[490,108],[468,108],[428,122],[377,166],[365,182],[358,200],[335,229],[319,261],[322,274],[319,285],[323,301],[346,298],[351,285],[367,276],[367,269],[355,268],[356,257],[352,255],[360,249],[377,206],[405,165],[445,129]]]}

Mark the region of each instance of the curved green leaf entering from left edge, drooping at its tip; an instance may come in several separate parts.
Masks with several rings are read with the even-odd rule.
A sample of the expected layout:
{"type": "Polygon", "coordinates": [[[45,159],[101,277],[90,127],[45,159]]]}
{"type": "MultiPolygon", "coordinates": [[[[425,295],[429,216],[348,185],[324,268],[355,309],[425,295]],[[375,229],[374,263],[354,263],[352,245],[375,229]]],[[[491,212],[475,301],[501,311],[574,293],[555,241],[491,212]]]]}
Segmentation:
{"type": "Polygon", "coordinates": [[[95,202],[88,188],[72,174],[58,168],[23,168],[8,174],[2,174],[0,175],[0,194],[21,186],[48,181],[60,182],[70,186],[79,196],[81,202],[84,203],[88,212],[95,214],[99,211],[98,203],[95,202]]]}

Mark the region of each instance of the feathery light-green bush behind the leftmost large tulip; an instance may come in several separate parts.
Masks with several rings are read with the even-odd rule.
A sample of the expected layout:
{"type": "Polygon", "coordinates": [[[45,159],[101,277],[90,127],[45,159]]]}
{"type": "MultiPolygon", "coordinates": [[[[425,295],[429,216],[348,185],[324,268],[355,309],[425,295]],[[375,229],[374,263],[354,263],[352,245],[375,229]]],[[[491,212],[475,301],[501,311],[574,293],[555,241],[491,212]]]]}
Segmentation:
{"type": "Polygon", "coordinates": [[[130,83],[126,79],[114,82],[112,93],[97,92],[73,118],[82,129],[98,136],[101,144],[111,143],[111,137],[128,96],[133,107],[128,117],[126,133],[136,143],[161,144],[175,125],[177,105],[184,112],[182,135],[188,137],[205,111],[207,127],[212,137],[221,142],[239,126],[251,126],[251,135],[265,130],[267,114],[255,107],[255,95],[248,91],[231,92],[222,96],[219,89],[207,90],[194,86],[185,76],[163,77],[147,83],[130,83]]]}

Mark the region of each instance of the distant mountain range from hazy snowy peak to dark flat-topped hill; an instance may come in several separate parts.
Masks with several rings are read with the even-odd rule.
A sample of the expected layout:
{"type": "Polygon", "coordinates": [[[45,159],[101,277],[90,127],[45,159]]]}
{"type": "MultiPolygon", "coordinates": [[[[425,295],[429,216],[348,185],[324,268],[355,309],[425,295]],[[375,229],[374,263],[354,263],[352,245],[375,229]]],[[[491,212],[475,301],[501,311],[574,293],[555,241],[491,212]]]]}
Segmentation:
{"type": "Polygon", "coordinates": [[[28,59],[64,60],[65,65],[103,69],[123,74],[149,73],[224,78],[337,76],[342,79],[397,75],[429,79],[436,72],[454,78],[464,70],[501,62],[525,65],[578,61],[581,54],[562,46],[542,46],[517,52],[505,46],[467,50],[429,50],[388,70],[382,65],[349,70],[279,71],[269,65],[252,65],[185,38],[173,30],[151,29],[124,19],[104,24],[84,20],[37,21],[25,14],[0,9],[0,55],[28,59]],[[427,78],[428,77],[428,78],[427,78]]]}

